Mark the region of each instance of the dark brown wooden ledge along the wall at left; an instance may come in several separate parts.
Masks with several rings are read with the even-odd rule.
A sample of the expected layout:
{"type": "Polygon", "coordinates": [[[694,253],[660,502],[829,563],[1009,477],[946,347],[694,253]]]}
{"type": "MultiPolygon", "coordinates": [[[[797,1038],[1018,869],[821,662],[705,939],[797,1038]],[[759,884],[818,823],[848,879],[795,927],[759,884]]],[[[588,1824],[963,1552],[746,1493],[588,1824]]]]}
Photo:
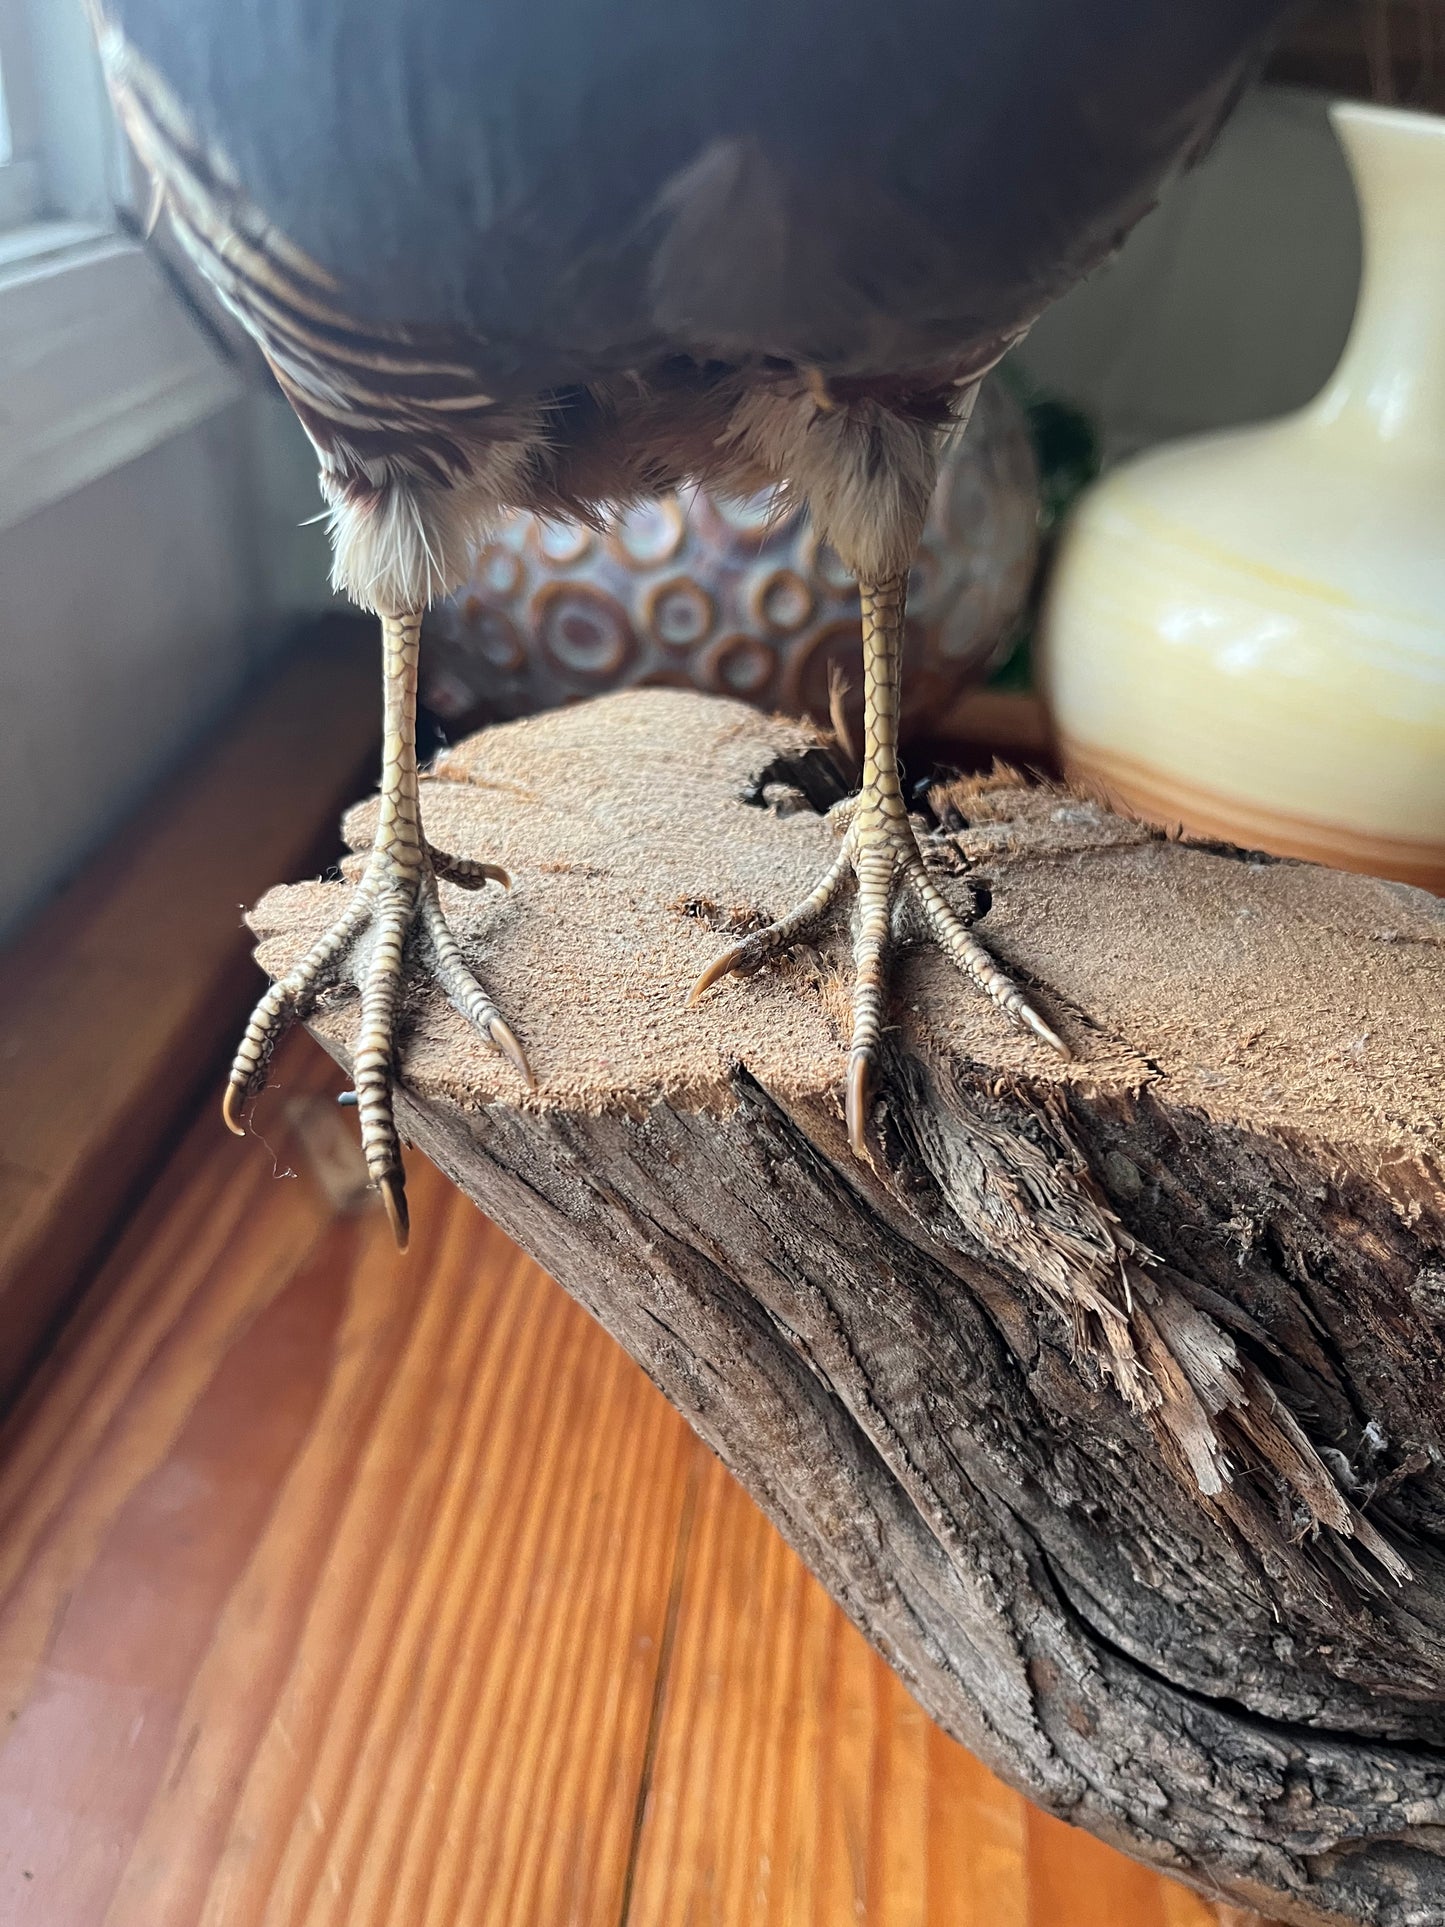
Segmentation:
{"type": "Polygon", "coordinates": [[[241,906],[339,848],[376,680],[351,624],[289,657],[0,956],[0,1403],[256,994],[241,906]]]}

